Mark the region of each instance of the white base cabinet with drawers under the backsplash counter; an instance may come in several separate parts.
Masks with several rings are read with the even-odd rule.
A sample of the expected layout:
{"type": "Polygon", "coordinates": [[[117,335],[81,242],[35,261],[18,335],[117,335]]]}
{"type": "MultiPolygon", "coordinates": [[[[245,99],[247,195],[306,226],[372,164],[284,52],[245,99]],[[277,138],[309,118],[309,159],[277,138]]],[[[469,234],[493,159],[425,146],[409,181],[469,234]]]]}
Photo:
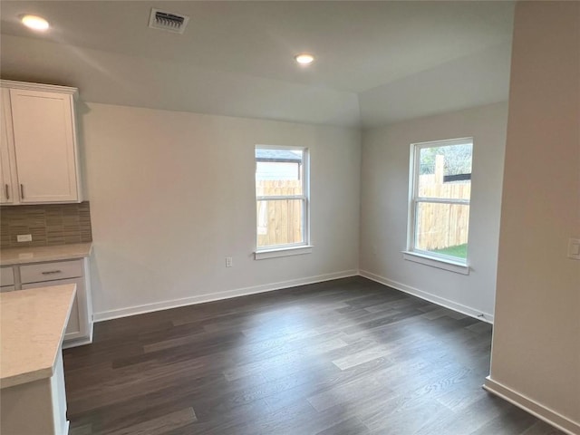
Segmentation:
{"type": "Polygon", "coordinates": [[[87,258],[0,268],[2,292],[63,284],[76,284],[63,348],[92,343],[92,297],[87,258]]]}

